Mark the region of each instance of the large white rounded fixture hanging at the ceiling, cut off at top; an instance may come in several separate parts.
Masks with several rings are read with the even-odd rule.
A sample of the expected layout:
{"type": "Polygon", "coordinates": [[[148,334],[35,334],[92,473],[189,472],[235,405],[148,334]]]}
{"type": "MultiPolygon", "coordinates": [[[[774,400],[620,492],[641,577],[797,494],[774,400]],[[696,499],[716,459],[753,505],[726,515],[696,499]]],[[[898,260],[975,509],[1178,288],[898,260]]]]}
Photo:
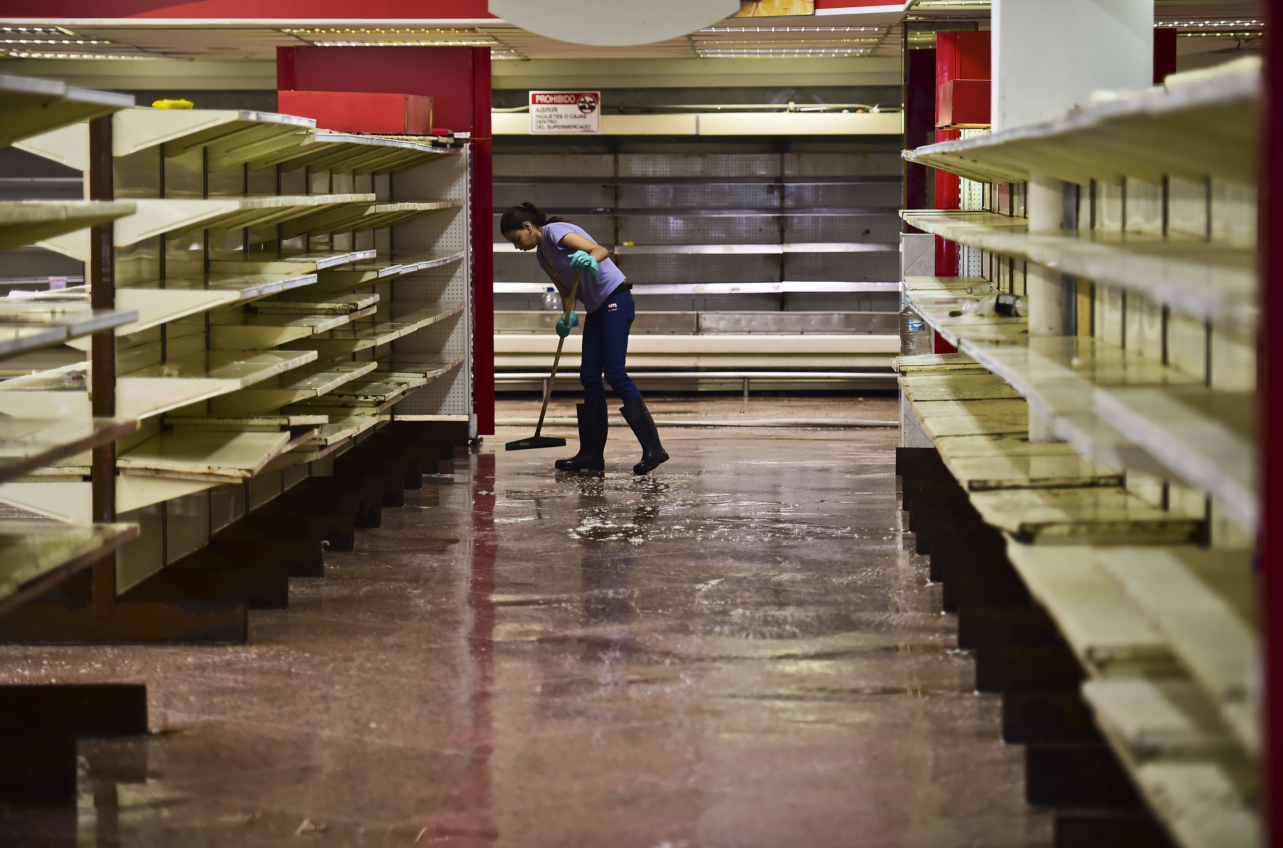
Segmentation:
{"type": "Polygon", "coordinates": [[[739,12],[739,0],[490,0],[490,14],[536,35],[599,46],[654,44],[739,12]]]}

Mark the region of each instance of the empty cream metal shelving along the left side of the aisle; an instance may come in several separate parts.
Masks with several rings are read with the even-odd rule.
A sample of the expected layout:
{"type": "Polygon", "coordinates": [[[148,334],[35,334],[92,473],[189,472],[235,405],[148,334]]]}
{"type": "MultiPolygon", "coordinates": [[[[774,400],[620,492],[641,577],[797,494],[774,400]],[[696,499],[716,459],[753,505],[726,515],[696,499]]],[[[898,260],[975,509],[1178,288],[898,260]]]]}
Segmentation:
{"type": "MultiPolygon", "coordinates": [[[[89,128],[22,146],[87,167],[89,128]]],[[[118,555],[118,591],[330,473],[394,418],[472,421],[466,146],[269,113],[126,109],[112,150],[122,200],[106,205],[132,213],[115,226],[117,303],[136,310],[115,328],[117,408],[140,422],[118,441],[122,520],[141,527],[118,555]]],[[[67,230],[40,244],[85,259],[87,240],[67,230]]],[[[19,303],[82,314],[89,296],[19,303]]],[[[4,381],[0,413],[85,416],[85,385],[83,364],[4,381]]],[[[0,485],[0,499],[82,520],[87,466],[67,455],[0,485]]]]}

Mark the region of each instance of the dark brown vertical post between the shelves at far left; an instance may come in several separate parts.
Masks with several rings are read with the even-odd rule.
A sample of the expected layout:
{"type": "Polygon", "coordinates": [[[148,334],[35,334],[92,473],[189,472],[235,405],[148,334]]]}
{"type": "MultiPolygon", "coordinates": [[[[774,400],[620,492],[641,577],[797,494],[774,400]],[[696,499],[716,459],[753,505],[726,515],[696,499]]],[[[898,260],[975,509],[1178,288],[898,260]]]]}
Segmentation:
{"type": "MultiPolygon", "coordinates": [[[[112,178],[112,115],[89,123],[89,196],[90,200],[113,200],[112,178]]],[[[90,231],[90,303],[94,309],[115,308],[115,241],[112,222],[90,231]]],[[[95,418],[115,417],[115,331],[104,330],[91,337],[90,405],[95,418]]],[[[94,448],[92,453],[92,516],[95,522],[115,521],[115,443],[94,448]]],[[[115,608],[115,553],[94,563],[94,615],[110,618],[115,608]]]]}

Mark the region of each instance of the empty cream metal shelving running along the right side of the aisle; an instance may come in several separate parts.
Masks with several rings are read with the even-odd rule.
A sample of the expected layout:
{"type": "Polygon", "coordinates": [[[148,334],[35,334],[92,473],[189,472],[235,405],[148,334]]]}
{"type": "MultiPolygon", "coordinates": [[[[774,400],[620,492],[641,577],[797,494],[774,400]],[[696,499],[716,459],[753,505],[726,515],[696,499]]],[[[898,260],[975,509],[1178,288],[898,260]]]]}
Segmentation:
{"type": "Polygon", "coordinates": [[[1043,124],[905,151],[1020,204],[906,210],[984,276],[903,291],[960,354],[898,360],[906,431],[939,452],[1088,674],[1083,698],[1185,848],[1255,845],[1255,337],[1260,64],[1119,92],[1043,124]],[[1039,268],[1041,267],[1041,268],[1039,268]],[[1065,275],[1056,291],[1042,269],[1065,275]],[[1037,273],[1035,273],[1037,272],[1037,273]],[[1060,296],[1065,335],[966,307],[1060,296]]]}

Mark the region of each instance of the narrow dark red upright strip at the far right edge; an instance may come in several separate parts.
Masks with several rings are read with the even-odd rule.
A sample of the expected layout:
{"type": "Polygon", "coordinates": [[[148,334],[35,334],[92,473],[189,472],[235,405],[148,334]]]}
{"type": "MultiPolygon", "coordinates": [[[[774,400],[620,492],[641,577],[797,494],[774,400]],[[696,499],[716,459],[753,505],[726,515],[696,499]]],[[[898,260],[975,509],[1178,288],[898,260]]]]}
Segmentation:
{"type": "Polygon", "coordinates": [[[1261,100],[1261,327],[1257,331],[1257,391],[1261,452],[1260,621],[1265,649],[1265,844],[1283,848],[1283,162],[1271,149],[1283,133],[1283,47],[1275,24],[1283,0],[1265,4],[1265,98],[1261,100]],[[1270,530],[1274,527],[1274,530],[1270,530]]]}

